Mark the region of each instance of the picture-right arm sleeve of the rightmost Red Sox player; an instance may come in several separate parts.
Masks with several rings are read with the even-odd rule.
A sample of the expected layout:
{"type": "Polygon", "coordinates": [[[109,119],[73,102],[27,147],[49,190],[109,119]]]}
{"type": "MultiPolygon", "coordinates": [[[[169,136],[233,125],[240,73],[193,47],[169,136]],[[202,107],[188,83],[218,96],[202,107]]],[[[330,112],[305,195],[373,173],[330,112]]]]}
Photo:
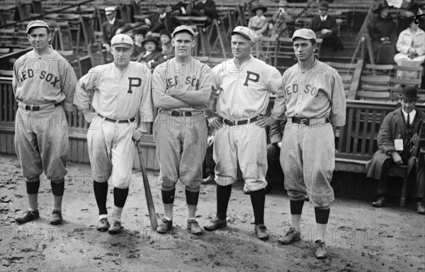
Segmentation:
{"type": "Polygon", "coordinates": [[[346,123],[346,97],[344,84],[336,70],[332,74],[332,92],[331,92],[331,114],[329,116],[332,125],[341,127],[346,123]]]}

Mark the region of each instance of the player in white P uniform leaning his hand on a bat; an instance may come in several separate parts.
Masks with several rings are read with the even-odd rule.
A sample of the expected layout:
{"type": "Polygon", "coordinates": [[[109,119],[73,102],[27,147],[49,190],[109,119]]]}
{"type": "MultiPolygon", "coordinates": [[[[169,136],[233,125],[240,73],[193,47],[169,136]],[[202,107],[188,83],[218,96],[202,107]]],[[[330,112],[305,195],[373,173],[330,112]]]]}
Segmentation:
{"type": "Polygon", "coordinates": [[[87,132],[94,196],[99,210],[97,229],[106,231],[108,179],[113,184],[114,207],[108,232],[121,232],[121,212],[128,196],[135,143],[147,132],[153,120],[152,74],[145,64],[130,62],[132,38],[117,34],[111,40],[113,62],[92,68],[78,81],[74,103],[90,122],[87,132]],[[94,91],[89,111],[90,91],[94,91]],[[137,119],[140,125],[137,126],[137,119]]]}

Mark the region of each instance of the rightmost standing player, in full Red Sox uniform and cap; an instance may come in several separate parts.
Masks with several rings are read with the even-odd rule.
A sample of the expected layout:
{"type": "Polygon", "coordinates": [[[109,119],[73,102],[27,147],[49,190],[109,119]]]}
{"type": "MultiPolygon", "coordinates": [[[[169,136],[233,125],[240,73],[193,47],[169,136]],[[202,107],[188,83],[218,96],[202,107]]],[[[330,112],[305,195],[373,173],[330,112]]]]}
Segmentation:
{"type": "Polygon", "coordinates": [[[280,164],[290,198],[292,227],[279,242],[290,244],[300,240],[302,205],[307,193],[316,215],[316,257],[324,259],[330,203],[334,200],[330,186],[335,168],[332,126],[345,125],[346,98],[338,72],[313,55],[317,49],[314,32],[306,28],[296,30],[292,40],[298,62],[283,73],[284,95],[276,98],[271,114],[275,120],[282,120],[284,115],[288,118],[280,164]]]}

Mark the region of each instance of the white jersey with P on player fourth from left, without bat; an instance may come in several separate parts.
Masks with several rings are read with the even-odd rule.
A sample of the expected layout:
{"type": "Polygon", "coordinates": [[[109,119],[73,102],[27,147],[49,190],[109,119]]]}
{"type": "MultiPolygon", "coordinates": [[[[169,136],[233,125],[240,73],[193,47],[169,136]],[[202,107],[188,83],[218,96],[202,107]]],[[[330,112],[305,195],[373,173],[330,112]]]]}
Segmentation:
{"type": "Polygon", "coordinates": [[[219,95],[216,112],[226,119],[240,120],[266,113],[271,93],[283,95],[278,69],[251,55],[237,68],[234,59],[212,69],[219,95]]]}

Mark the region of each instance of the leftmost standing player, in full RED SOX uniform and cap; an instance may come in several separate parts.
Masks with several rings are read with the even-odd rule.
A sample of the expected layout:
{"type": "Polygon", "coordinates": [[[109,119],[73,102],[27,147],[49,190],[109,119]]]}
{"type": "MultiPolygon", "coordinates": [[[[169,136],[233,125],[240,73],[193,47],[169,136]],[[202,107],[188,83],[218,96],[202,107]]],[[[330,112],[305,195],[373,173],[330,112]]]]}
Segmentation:
{"type": "Polygon", "coordinates": [[[18,101],[15,120],[16,154],[26,179],[28,211],[16,222],[37,219],[40,174],[44,170],[53,193],[52,225],[62,223],[64,176],[67,174],[68,123],[77,77],[67,60],[49,45],[50,28],[44,21],[27,26],[33,50],[16,60],[12,87],[18,101]]]}

